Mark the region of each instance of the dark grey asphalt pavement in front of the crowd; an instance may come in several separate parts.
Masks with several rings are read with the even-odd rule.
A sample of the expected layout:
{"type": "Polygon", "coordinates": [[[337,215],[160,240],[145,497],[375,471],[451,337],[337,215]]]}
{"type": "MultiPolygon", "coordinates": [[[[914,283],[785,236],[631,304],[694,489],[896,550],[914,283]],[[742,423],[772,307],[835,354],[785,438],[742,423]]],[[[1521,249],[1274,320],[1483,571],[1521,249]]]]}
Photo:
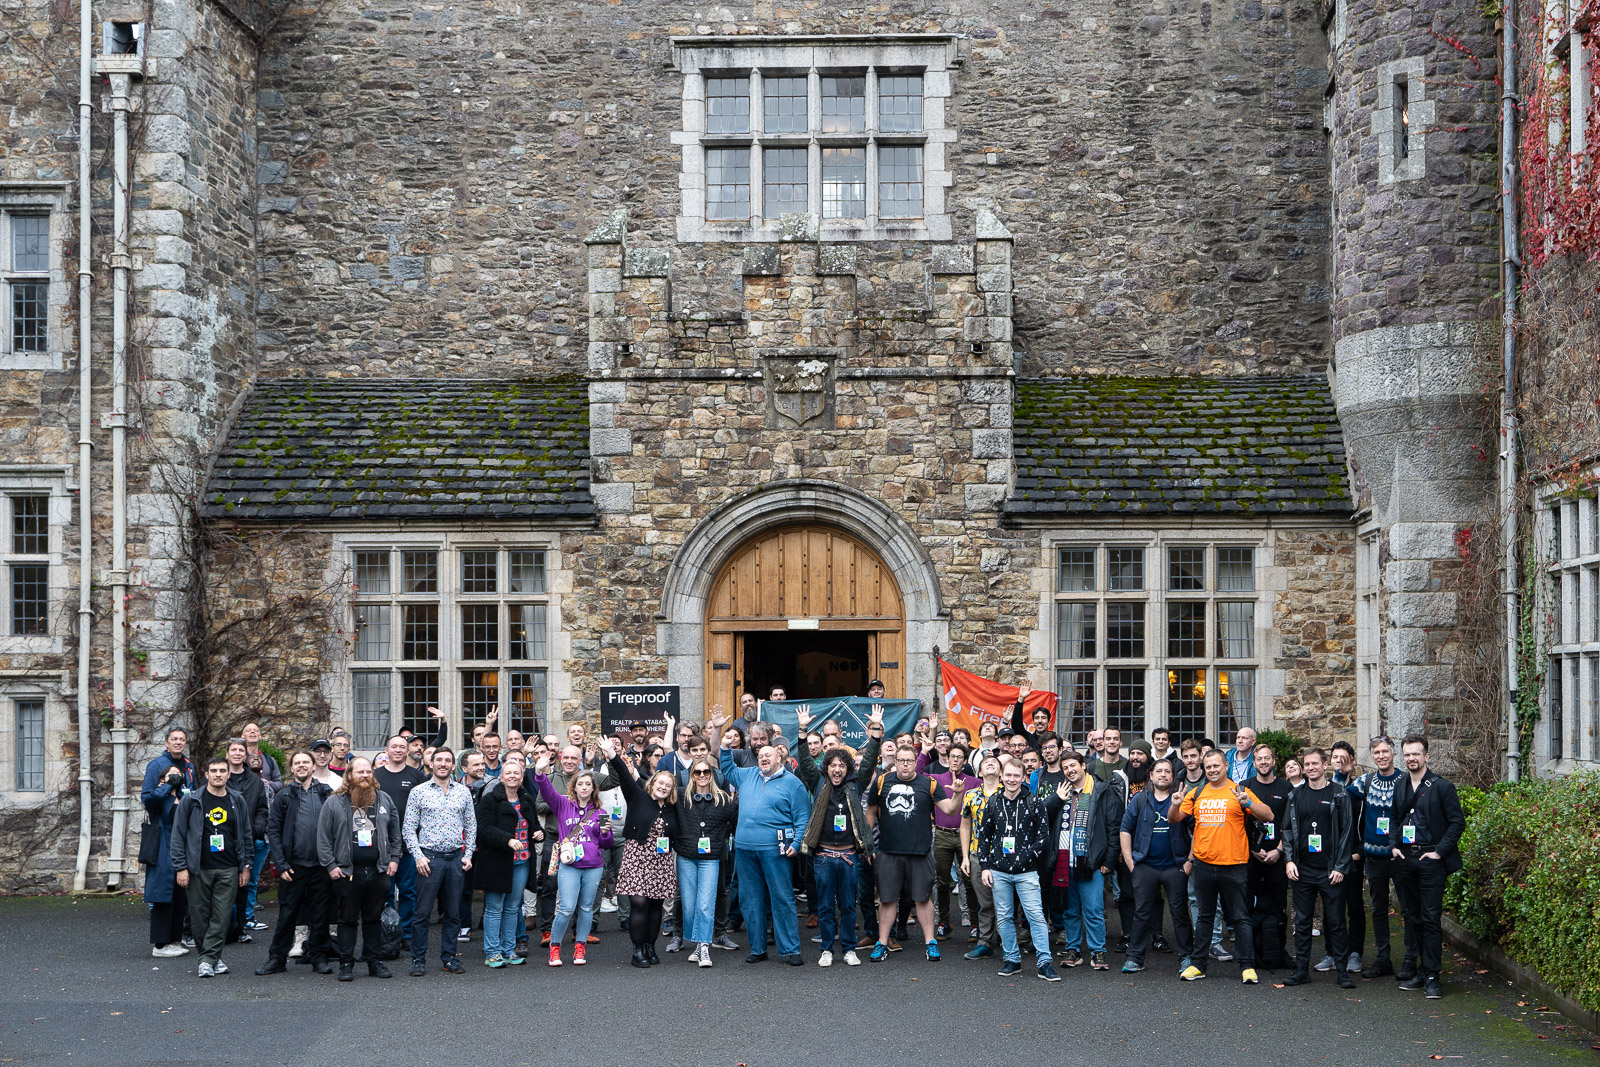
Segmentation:
{"type": "MultiPolygon", "coordinates": [[[[261,918],[275,923],[270,902],[261,918]]],[[[1438,1001],[1389,977],[1278,989],[1280,971],[1246,987],[1237,965],[1181,982],[1155,953],[1141,974],[1085,966],[1046,984],[1032,966],[998,977],[992,960],[962,960],[963,941],[941,963],[909,949],[824,971],[806,944],[805,968],[715,952],[710,969],[662,955],[640,971],[603,918],[582,968],[491,971],[474,939],[466,974],[438,969],[435,942],[426,977],[402,961],[392,979],[358,965],[339,984],[293,965],[256,977],[259,942],[229,945],[232,973],[198,979],[192,953],[150,958],[138,897],[5,899],[0,1064],[1600,1064],[1600,1038],[1453,953],[1438,1001]]]]}

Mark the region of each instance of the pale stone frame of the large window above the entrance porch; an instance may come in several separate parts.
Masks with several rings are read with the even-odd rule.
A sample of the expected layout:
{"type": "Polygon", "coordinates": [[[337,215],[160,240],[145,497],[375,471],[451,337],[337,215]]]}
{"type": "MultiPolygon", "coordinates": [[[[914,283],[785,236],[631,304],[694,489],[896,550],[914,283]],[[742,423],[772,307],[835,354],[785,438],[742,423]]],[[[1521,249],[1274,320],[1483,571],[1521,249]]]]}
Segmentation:
{"type": "Polygon", "coordinates": [[[958,38],[952,34],[885,35],[786,35],[786,37],[674,37],[672,66],[683,77],[682,120],[672,142],[683,150],[678,174],[682,195],[677,216],[680,242],[778,242],[782,218],[762,214],[762,149],[802,147],[808,150],[808,213],[821,221],[824,242],[869,240],[952,240],[949,189],[954,184],[950,152],[955,128],[949,123],[952,75],[960,67],[958,38]],[[810,85],[810,122],[805,134],[763,134],[763,72],[805,72],[810,85]],[[821,134],[821,78],[829,74],[862,72],[867,77],[867,130],[861,134],[821,134]],[[707,133],[706,77],[733,74],[750,83],[750,133],[707,133]],[[878,75],[920,74],[923,130],[886,133],[877,126],[878,75]],[[867,218],[822,219],[822,147],[867,149],[867,218]],[[878,146],[915,144],[922,147],[922,218],[878,218],[878,146]],[[750,218],[706,218],[706,152],[717,147],[750,149],[750,218]]]}

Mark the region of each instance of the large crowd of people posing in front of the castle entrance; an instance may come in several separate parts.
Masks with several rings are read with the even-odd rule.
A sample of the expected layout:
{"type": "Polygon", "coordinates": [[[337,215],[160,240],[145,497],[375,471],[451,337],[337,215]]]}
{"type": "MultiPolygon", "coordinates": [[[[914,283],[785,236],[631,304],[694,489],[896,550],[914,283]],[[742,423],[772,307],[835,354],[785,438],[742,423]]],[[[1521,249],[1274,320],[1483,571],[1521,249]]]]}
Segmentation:
{"type": "MultiPolygon", "coordinates": [[[[424,976],[435,928],[446,973],[466,969],[475,928],[488,968],[523,965],[534,934],[547,966],[582,966],[598,917],[616,915],[642,969],[662,963],[662,937],[710,968],[741,928],[752,965],[776,949],[803,966],[805,931],[819,966],[882,965],[915,923],[928,961],[965,933],[966,960],[998,957],[1010,976],[1030,953],[1046,982],[1058,966],[1110,969],[1110,953],[1139,973],[1155,952],[1184,981],[1237,963],[1245,984],[1262,969],[1288,971],[1285,985],[1333,973],[1346,989],[1394,974],[1442,995],[1443,893],[1464,821],[1424,736],[1398,752],[1373,737],[1366,773],[1344,741],[1278,766],[1248,726],[1227,749],[1174,747],[1157,728],[1126,744],[1098,729],[1080,750],[1048,712],[1024,717],[1027,691],[976,739],[933,720],[886,736],[874,707],[861,749],[838,721],[811,729],[805,704],[798,736],[784,737],[754,694],[738,715],[717,705],[704,726],[669,718],[661,734],[630,723],[590,737],[574,723],[501,736],[491,713],[459,755],[443,728],[397,734],[376,761],[334,731],[286,769],[254,723],[203,765],[174,726],[142,789],[152,953],[192,949],[198,976],[226,974],[224,945],[267,929],[256,907],[270,878],[277,929],[256,974],[299,960],[338,966],[338,981],[357,961],[390,977],[386,960],[408,953],[424,976]]],[[[869,699],[882,694],[874,681],[869,699]]]]}

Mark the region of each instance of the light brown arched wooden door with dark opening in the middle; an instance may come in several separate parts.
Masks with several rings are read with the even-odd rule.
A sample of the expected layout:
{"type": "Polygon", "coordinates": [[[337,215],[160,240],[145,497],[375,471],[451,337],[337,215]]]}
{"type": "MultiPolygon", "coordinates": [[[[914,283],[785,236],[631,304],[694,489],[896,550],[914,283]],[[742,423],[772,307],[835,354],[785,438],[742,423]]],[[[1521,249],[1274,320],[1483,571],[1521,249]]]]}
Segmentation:
{"type": "Polygon", "coordinates": [[[906,606],[878,553],[827,526],[750,539],[722,566],[706,606],[707,713],[715,704],[738,709],[739,693],[758,681],[750,675],[760,664],[746,662],[747,648],[763,657],[782,656],[786,646],[803,654],[829,633],[864,638],[862,673],[880,678],[885,696],[906,694],[906,606]]]}

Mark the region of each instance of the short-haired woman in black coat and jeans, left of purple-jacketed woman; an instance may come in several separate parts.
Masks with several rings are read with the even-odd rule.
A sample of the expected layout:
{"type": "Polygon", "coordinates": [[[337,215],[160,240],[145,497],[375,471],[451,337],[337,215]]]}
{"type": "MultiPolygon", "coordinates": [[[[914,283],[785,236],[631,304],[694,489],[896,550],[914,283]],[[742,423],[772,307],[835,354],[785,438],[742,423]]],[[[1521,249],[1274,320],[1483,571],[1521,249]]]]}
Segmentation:
{"type": "Polygon", "coordinates": [[[517,952],[523,939],[522,891],[528,870],[544,840],[539,829],[538,797],[523,779],[520,757],[506,760],[498,781],[478,797],[478,848],[472,856],[474,883],[483,889],[483,963],[522,963],[517,952]]]}

